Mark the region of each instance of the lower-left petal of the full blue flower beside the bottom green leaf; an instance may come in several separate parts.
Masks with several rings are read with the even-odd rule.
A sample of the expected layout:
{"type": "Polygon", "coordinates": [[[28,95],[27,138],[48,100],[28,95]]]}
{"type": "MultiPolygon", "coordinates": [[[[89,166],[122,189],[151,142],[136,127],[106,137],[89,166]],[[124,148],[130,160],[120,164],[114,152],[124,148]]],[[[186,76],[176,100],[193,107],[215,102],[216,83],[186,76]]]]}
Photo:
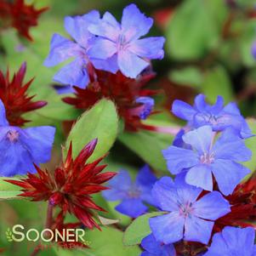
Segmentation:
{"type": "Polygon", "coordinates": [[[149,220],[156,241],[166,244],[178,242],[183,238],[185,218],[179,212],[168,213],[149,220]]]}

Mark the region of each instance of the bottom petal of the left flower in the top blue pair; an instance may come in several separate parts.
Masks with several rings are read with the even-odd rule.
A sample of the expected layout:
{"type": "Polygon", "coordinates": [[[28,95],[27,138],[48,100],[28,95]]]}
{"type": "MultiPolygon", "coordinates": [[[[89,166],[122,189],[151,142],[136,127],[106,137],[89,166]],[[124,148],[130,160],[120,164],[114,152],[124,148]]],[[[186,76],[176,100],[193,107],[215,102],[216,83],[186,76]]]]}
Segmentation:
{"type": "Polygon", "coordinates": [[[85,63],[81,59],[73,60],[70,64],[65,65],[54,76],[54,81],[79,88],[86,88],[89,82],[88,71],[85,63]]]}

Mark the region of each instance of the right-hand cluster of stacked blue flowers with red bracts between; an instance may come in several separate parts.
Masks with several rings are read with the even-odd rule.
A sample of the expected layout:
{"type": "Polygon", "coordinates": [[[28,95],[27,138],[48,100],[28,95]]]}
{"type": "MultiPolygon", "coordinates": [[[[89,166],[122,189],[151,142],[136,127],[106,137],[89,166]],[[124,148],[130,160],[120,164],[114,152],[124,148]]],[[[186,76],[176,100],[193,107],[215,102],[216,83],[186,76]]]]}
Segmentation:
{"type": "Polygon", "coordinates": [[[172,111],[188,123],[174,145],[162,151],[176,177],[163,177],[153,186],[152,196],[163,215],[150,219],[154,246],[148,248],[150,238],[145,238],[142,255],[157,250],[161,253],[156,255],[199,255],[222,229],[204,255],[232,255],[236,247],[239,255],[254,255],[254,230],[229,226],[248,226],[255,216],[253,190],[248,187],[252,181],[239,185],[250,173],[241,163],[252,155],[244,143],[252,136],[247,122],[235,103],[224,107],[220,96],[215,105],[208,105],[200,94],[193,107],[175,100],[172,111]],[[199,244],[193,247],[195,242],[199,244]]]}

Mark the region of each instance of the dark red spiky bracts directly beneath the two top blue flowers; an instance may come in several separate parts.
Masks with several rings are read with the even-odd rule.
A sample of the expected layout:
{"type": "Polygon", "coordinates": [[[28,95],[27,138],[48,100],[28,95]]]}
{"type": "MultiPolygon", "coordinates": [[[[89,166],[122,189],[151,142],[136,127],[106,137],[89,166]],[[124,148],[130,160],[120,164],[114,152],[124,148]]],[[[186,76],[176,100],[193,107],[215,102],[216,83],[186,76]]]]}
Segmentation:
{"type": "Polygon", "coordinates": [[[110,99],[116,104],[118,115],[122,117],[126,130],[135,132],[139,128],[153,129],[143,124],[140,118],[133,113],[134,109],[139,106],[135,102],[137,97],[157,94],[155,90],[144,88],[146,83],[155,77],[153,73],[145,73],[137,79],[125,77],[120,71],[112,74],[107,71],[94,70],[93,73],[94,76],[90,76],[93,82],[87,88],[75,87],[74,97],[65,97],[63,101],[86,111],[98,100],[110,99]]]}

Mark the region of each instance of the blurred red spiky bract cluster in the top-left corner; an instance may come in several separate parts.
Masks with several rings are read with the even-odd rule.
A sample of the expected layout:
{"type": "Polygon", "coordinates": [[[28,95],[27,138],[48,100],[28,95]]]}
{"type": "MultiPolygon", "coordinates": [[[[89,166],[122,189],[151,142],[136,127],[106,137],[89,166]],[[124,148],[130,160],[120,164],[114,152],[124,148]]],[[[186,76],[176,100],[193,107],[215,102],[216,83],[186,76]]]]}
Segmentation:
{"type": "Polygon", "coordinates": [[[39,16],[48,7],[36,9],[33,4],[26,4],[24,0],[14,0],[14,2],[0,0],[0,9],[0,18],[3,23],[6,23],[6,19],[9,20],[9,26],[13,26],[20,36],[32,41],[29,30],[31,26],[37,26],[39,16]]]}

